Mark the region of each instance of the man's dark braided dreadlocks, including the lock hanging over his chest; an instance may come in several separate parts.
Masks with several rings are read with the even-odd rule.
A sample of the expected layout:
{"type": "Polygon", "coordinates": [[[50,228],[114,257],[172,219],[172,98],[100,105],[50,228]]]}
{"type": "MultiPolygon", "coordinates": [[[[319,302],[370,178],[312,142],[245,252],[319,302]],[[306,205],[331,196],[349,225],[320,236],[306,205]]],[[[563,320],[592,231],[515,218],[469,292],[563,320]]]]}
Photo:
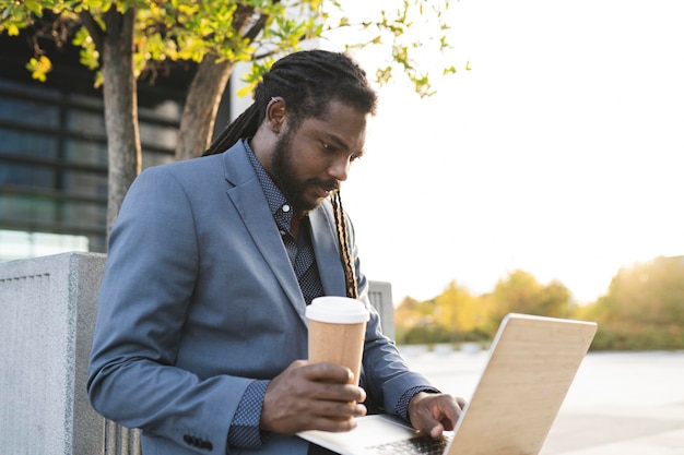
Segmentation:
{"type": "MultiPolygon", "coordinates": [[[[204,156],[222,153],[239,139],[257,133],[272,97],[285,101],[293,131],[307,118],[323,118],[330,101],[338,100],[361,112],[375,115],[377,95],[366,73],[349,56],[326,50],[294,52],[278,60],[255,87],[253,103],[214,140],[204,156]]],[[[347,297],[358,298],[358,286],[340,192],[331,197],[340,259],[347,297]]]]}

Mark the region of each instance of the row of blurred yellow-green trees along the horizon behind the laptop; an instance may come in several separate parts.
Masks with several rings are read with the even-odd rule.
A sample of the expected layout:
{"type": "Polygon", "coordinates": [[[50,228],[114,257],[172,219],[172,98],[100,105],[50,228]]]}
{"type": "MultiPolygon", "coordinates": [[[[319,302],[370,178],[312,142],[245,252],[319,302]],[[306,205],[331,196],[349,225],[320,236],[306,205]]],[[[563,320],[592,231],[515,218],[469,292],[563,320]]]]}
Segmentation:
{"type": "Polygon", "coordinates": [[[608,292],[586,306],[574,303],[561,282],[544,285],[521,270],[481,296],[451,282],[434,299],[401,302],[394,315],[397,342],[488,342],[509,312],[595,321],[592,349],[684,349],[684,256],[623,267],[608,292]]]}

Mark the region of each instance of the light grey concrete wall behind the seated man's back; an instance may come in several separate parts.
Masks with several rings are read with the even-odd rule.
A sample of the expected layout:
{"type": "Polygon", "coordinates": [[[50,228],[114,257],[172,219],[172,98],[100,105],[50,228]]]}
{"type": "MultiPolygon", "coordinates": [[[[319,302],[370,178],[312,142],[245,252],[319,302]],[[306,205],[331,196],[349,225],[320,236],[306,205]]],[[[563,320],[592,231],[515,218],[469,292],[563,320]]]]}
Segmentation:
{"type": "MultiPolygon", "coordinates": [[[[105,421],[85,392],[106,256],[0,263],[0,454],[139,455],[140,433],[105,421]]],[[[389,283],[370,302],[393,338],[389,283]]]]}

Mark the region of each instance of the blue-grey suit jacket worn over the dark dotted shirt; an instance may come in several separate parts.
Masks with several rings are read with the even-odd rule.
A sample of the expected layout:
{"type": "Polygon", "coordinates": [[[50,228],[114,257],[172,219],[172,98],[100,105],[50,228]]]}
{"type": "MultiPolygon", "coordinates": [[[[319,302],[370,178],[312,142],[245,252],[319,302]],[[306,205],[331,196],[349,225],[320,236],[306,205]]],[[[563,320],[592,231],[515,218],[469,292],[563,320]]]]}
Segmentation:
{"type": "MultiPolygon", "coordinates": [[[[310,223],[325,291],[343,296],[328,202],[310,223]]],[[[103,416],[142,429],[145,455],[224,454],[248,384],[307,357],[305,307],[240,142],[221,155],[150,168],[130,188],[110,234],[91,402],[103,416]]],[[[362,385],[388,411],[410,387],[429,385],[408,371],[373,310],[362,385]]],[[[228,453],[306,454],[307,446],[272,434],[259,450],[228,453]]]]}

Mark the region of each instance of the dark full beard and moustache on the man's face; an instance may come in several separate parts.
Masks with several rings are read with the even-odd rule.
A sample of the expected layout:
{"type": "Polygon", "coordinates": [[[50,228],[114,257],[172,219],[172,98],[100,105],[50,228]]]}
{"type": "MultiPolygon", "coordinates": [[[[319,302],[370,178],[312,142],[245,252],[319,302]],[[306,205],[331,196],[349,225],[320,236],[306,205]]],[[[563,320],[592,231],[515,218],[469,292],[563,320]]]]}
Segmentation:
{"type": "Polygon", "coordinates": [[[305,193],[307,188],[319,185],[328,191],[339,190],[340,185],[335,179],[322,180],[318,178],[309,178],[299,180],[297,176],[297,165],[293,160],[292,139],[294,131],[288,131],[285,135],[278,140],[271,158],[271,172],[275,184],[283,192],[283,195],[292,206],[306,214],[317,208],[322,200],[307,199],[305,193]]]}

